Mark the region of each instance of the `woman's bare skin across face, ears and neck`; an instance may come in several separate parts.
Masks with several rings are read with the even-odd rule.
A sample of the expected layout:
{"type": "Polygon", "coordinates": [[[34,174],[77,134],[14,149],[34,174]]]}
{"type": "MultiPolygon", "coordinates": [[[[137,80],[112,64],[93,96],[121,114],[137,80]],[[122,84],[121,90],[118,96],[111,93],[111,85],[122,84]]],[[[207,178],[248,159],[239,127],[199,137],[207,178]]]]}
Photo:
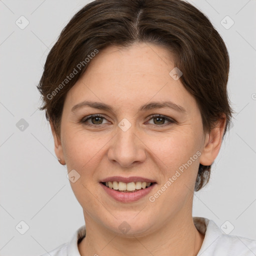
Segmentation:
{"type": "Polygon", "coordinates": [[[169,75],[173,67],[171,54],[162,46],[108,46],[90,61],[68,91],[60,135],[51,123],[56,156],[68,172],[75,169],[80,175],[70,185],[86,222],[86,236],[78,245],[82,256],[196,255],[201,247],[204,236],[192,220],[194,183],[199,163],[210,165],[219,152],[225,116],[204,134],[195,99],[180,79],[169,75]],[[109,104],[113,112],[91,107],[72,112],[71,108],[83,100],[109,104]],[[186,112],[167,107],[139,111],[142,104],[165,100],[186,112]],[[104,118],[82,123],[90,114],[104,118]],[[173,122],[152,118],[152,114],[164,115],[173,122]],[[125,132],[118,127],[123,118],[131,124],[125,132]],[[150,202],[148,197],[196,151],[200,156],[150,202]],[[99,184],[114,175],[142,176],[157,184],[138,201],[118,202],[99,184]],[[130,226],[126,234],[118,228],[123,221],[130,226]]]}

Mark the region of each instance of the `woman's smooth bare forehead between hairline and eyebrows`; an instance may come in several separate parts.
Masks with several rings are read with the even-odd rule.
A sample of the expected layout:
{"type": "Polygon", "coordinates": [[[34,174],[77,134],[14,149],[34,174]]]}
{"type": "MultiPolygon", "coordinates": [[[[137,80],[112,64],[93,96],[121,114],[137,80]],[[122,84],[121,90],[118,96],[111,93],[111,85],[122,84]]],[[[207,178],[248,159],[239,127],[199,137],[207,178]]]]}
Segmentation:
{"type": "Polygon", "coordinates": [[[148,43],[129,47],[108,46],[99,50],[76,84],[68,91],[69,104],[85,99],[115,102],[122,106],[149,100],[172,100],[184,108],[194,104],[180,79],[169,72],[174,68],[171,53],[148,43]]]}

